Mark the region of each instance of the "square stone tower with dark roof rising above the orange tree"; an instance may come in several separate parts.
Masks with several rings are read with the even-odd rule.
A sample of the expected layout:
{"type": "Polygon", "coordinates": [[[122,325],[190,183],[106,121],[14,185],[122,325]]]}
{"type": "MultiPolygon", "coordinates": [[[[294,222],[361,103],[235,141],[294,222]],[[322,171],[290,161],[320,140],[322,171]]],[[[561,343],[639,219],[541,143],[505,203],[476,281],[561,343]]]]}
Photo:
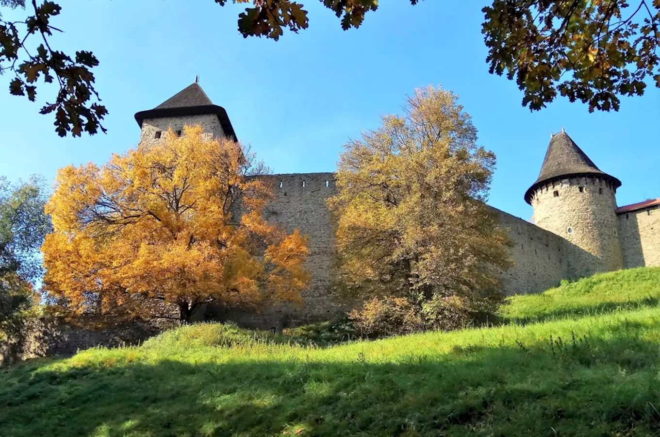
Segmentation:
{"type": "Polygon", "coordinates": [[[159,141],[170,127],[180,134],[184,125],[195,124],[203,125],[205,135],[209,138],[224,136],[236,141],[236,133],[227,112],[221,106],[214,105],[197,82],[156,108],[138,112],[135,120],[142,129],[140,143],[159,141]]]}

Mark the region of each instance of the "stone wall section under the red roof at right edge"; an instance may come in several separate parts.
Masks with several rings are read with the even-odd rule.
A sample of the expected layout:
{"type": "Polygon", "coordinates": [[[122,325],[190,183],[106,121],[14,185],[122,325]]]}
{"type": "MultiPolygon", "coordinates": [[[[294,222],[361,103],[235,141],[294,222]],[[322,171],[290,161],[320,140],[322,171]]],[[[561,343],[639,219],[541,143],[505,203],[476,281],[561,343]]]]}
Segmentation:
{"type": "Polygon", "coordinates": [[[660,208],[618,215],[619,239],[626,269],[660,266],[660,208]]]}

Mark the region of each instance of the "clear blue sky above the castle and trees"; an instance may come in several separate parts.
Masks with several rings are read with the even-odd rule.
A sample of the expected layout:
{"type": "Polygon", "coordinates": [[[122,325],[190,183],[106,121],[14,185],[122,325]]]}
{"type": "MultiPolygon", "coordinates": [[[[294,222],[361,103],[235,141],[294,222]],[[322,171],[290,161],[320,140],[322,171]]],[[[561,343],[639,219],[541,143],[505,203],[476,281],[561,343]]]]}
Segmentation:
{"type": "MultiPolygon", "coordinates": [[[[623,185],[619,205],[660,197],[660,92],[626,98],[622,110],[589,114],[580,103],[554,102],[541,112],[521,107],[521,92],[488,74],[480,33],[481,3],[426,0],[382,2],[359,29],[344,32],[318,0],[305,0],[310,28],[279,42],[244,39],[242,7],[213,0],[61,0],[54,26],[65,50],[92,50],[96,83],[110,110],[107,135],[60,139],[40,102],[9,96],[0,77],[0,174],[11,180],[42,174],[51,184],[67,164],[106,162],[134,147],[133,114],[160,104],[199,75],[223,106],[239,139],[274,172],[331,172],[349,137],[399,112],[418,86],[459,94],[479,129],[480,144],[498,166],[490,204],[529,219],[523,194],[541,168],[550,131],[562,126],[601,170],[623,185]]],[[[7,15],[5,15],[7,17],[7,15]]]]}

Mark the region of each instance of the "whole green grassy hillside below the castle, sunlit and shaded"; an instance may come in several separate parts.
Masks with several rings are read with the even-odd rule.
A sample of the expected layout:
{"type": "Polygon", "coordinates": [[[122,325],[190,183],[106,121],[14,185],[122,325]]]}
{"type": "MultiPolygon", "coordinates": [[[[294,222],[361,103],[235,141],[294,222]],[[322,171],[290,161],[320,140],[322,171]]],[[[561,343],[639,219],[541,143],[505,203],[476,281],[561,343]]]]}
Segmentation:
{"type": "Polygon", "coordinates": [[[660,269],[325,349],[195,325],[0,370],[0,436],[657,436],[660,269]]]}

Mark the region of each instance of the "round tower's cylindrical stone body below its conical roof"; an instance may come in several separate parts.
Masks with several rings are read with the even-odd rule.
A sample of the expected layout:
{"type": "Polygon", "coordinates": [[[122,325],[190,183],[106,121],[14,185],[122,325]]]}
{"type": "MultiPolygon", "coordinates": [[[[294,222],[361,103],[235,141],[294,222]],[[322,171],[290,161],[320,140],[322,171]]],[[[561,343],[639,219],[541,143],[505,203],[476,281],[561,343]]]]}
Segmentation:
{"type": "Polygon", "coordinates": [[[533,193],[537,226],[565,238],[568,278],[623,268],[614,186],[605,178],[562,178],[533,193]]]}

